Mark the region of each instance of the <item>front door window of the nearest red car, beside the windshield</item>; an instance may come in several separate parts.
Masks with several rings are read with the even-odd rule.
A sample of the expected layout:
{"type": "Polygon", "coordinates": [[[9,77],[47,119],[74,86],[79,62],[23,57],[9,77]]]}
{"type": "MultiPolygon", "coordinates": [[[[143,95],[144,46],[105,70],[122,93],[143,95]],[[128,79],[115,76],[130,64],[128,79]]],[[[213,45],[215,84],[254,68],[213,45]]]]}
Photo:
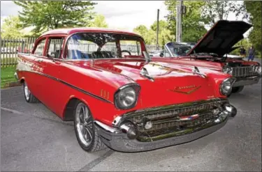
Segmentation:
{"type": "Polygon", "coordinates": [[[50,38],[48,45],[48,56],[59,58],[63,47],[64,38],[50,38]]]}

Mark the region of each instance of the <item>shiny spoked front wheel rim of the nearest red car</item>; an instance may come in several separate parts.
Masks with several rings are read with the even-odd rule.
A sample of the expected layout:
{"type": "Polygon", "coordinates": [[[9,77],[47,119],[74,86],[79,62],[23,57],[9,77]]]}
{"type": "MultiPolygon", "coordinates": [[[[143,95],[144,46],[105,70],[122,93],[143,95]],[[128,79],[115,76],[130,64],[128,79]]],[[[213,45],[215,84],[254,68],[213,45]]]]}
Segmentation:
{"type": "Polygon", "coordinates": [[[75,127],[81,143],[89,146],[94,137],[93,119],[90,111],[83,103],[79,103],[75,111],[75,127]]]}

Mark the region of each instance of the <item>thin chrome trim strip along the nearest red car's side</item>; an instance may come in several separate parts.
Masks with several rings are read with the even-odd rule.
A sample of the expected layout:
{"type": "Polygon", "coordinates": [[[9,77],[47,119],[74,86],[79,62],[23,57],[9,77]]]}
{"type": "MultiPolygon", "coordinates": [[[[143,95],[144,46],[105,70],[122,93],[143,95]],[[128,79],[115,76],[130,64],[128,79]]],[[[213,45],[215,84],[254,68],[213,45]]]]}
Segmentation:
{"type": "Polygon", "coordinates": [[[94,95],[93,93],[90,93],[90,92],[88,92],[88,91],[85,91],[85,90],[83,90],[82,88],[78,88],[78,87],[76,87],[76,86],[73,86],[72,84],[69,84],[69,83],[67,83],[66,81],[63,81],[63,80],[58,79],[58,78],[56,78],[56,77],[52,77],[52,76],[50,76],[50,75],[46,75],[46,74],[44,74],[44,73],[36,72],[36,71],[31,71],[31,70],[20,70],[20,71],[34,72],[34,73],[36,73],[36,74],[38,74],[38,75],[42,75],[42,76],[48,77],[48,78],[50,78],[50,79],[53,79],[53,80],[55,80],[55,81],[59,81],[59,82],[61,82],[62,84],[65,84],[65,85],[67,85],[67,86],[70,86],[71,88],[74,88],[74,89],[77,90],[77,91],[80,91],[80,92],[82,92],[82,93],[85,93],[85,94],[87,94],[87,95],[90,95],[90,96],[92,96],[92,97],[95,97],[95,98],[97,98],[97,99],[99,99],[99,100],[101,100],[101,101],[103,101],[103,102],[107,102],[107,103],[112,103],[112,104],[113,104],[113,102],[110,102],[109,100],[106,100],[106,99],[104,99],[104,98],[102,98],[102,97],[99,97],[98,95],[94,95]]]}

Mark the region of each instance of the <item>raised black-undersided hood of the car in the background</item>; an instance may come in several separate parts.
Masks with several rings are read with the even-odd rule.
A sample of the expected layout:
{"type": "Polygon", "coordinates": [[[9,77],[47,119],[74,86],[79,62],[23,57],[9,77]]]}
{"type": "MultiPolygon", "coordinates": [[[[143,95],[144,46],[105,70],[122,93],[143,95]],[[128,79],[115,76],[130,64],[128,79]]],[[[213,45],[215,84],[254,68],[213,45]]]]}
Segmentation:
{"type": "Polygon", "coordinates": [[[214,53],[224,56],[233,51],[232,47],[244,38],[243,34],[252,27],[243,21],[219,20],[187,53],[214,53]]]}

